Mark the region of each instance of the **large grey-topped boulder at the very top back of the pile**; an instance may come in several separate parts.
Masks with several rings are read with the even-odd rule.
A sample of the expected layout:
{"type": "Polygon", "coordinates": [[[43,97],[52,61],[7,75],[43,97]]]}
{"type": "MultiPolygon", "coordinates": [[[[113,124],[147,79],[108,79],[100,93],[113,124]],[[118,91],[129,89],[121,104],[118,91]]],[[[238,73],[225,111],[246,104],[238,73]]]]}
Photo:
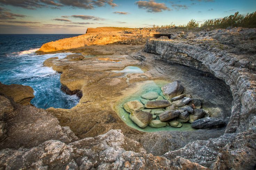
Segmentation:
{"type": "Polygon", "coordinates": [[[176,81],[163,86],[161,89],[163,95],[167,96],[168,98],[172,98],[182,94],[184,87],[176,81]]]}

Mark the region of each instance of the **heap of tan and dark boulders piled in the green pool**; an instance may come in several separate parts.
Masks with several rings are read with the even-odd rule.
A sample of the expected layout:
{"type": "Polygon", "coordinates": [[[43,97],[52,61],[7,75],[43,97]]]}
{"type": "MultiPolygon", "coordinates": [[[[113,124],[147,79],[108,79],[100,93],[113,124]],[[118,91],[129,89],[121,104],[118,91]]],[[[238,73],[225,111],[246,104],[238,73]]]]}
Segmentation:
{"type": "Polygon", "coordinates": [[[129,101],[123,104],[123,109],[130,113],[129,118],[141,128],[150,126],[160,128],[165,126],[182,127],[185,122],[194,128],[218,128],[225,122],[210,117],[207,110],[202,109],[198,99],[192,99],[190,94],[182,94],[184,87],[177,81],[169,83],[157,92],[141,95],[141,101],[129,101]]]}

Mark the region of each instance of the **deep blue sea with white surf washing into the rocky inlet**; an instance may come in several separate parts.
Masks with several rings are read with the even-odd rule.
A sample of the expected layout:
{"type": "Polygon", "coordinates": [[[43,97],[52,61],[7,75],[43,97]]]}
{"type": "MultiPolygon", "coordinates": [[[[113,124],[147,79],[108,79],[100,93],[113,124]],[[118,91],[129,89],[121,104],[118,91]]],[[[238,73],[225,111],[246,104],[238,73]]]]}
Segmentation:
{"type": "Polygon", "coordinates": [[[34,89],[31,103],[49,107],[70,109],[79,98],[61,91],[60,74],[43,62],[51,57],[65,58],[71,53],[37,55],[42,44],[78,36],[80,34],[0,34],[0,82],[22,84],[34,89]]]}

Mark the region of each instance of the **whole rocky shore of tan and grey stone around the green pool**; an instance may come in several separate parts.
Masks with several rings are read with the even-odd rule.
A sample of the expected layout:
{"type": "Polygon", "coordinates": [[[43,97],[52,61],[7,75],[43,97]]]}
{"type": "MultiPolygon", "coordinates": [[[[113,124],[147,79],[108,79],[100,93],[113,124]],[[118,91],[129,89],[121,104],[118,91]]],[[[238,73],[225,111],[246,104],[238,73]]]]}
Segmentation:
{"type": "Polygon", "coordinates": [[[44,110],[30,104],[31,87],[0,83],[0,169],[256,168],[255,28],[88,28],[37,51],[58,52],[73,54],[44,65],[62,73],[64,92],[81,99],[72,109],[44,110]],[[127,66],[144,73],[117,71],[127,66]],[[161,80],[184,87],[166,106],[189,99],[196,108],[201,101],[211,118],[200,126],[207,120],[207,127],[211,121],[224,127],[144,132],[128,126],[117,103],[161,80]]]}

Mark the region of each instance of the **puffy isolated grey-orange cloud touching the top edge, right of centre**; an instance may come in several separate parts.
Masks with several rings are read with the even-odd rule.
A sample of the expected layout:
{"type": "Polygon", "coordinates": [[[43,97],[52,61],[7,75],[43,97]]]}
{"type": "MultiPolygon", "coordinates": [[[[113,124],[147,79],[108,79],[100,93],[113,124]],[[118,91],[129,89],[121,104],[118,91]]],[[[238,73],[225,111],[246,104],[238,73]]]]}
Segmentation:
{"type": "Polygon", "coordinates": [[[154,0],[137,1],[135,4],[138,5],[139,8],[146,9],[147,12],[162,12],[163,10],[171,10],[165,5],[165,3],[157,3],[154,0]]]}

